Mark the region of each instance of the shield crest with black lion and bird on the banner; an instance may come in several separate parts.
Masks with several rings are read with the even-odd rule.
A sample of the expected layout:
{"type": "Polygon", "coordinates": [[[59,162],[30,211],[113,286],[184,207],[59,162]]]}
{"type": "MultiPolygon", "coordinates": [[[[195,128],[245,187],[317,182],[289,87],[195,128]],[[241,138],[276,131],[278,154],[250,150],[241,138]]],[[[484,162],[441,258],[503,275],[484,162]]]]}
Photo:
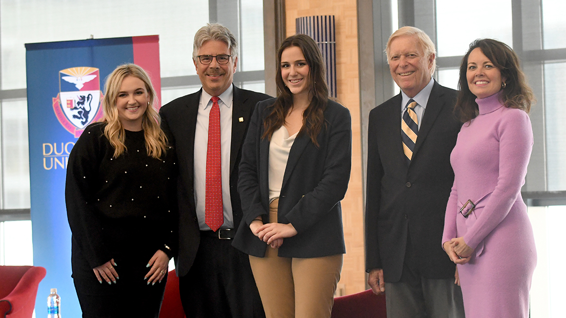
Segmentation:
{"type": "Polygon", "coordinates": [[[59,123],[79,138],[88,124],[102,117],[100,73],[94,67],[72,67],[59,71],[59,94],[53,111],[59,123]]]}

